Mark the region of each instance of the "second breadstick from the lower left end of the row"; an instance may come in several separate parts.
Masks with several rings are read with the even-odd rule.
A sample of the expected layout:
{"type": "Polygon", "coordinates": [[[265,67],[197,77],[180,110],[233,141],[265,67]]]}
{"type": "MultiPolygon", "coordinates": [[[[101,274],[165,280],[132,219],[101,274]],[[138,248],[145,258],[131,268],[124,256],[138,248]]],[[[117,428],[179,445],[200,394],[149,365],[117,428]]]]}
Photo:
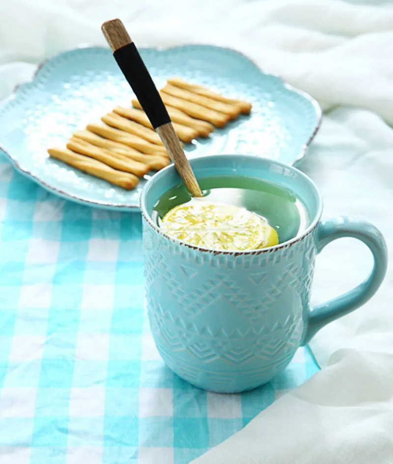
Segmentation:
{"type": "Polygon", "coordinates": [[[139,163],[138,161],[130,160],[127,158],[118,158],[112,156],[110,152],[105,153],[102,148],[95,147],[94,145],[86,146],[84,143],[69,140],[67,148],[81,155],[89,156],[102,163],[108,164],[119,171],[126,171],[135,174],[138,177],[143,177],[150,170],[148,164],[139,163]]]}

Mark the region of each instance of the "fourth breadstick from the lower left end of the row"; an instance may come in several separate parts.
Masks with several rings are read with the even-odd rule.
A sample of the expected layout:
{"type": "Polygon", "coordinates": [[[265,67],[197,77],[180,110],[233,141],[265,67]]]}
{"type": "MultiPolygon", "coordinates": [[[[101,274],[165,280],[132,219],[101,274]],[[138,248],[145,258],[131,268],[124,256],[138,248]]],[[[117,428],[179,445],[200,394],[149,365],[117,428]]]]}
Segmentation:
{"type": "Polygon", "coordinates": [[[151,153],[153,155],[161,154],[169,158],[165,147],[147,142],[146,140],[143,140],[143,138],[133,134],[113,129],[106,124],[88,124],[86,129],[99,136],[106,137],[115,142],[123,143],[131,148],[135,148],[142,153],[151,153]]]}

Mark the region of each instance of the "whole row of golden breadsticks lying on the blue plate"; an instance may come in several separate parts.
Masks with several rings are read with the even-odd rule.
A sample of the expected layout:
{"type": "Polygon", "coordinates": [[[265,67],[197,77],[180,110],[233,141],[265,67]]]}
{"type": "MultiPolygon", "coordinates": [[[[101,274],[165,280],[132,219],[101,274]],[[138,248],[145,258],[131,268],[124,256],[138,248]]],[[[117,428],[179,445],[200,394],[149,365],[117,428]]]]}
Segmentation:
{"type": "MultiPolygon", "coordinates": [[[[250,103],[180,79],[168,79],[160,94],[177,136],[186,143],[207,137],[214,126],[224,127],[239,114],[251,111],[250,103]]],[[[102,122],[75,132],[66,148],[50,148],[48,153],[126,190],[134,189],[139,177],[162,169],[170,159],[138,100],[132,105],[134,108],[114,108],[102,122]]]]}

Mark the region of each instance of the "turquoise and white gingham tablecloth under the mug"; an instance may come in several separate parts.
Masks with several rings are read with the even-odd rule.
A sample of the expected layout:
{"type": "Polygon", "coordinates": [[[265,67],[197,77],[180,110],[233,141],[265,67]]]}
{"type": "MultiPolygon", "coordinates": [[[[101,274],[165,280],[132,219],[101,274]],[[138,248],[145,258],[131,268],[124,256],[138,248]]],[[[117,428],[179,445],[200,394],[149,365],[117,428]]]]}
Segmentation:
{"type": "Polygon", "coordinates": [[[0,464],[185,464],[318,369],[207,393],[164,365],[139,214],[64,201],[0,156],[0,464]]]}

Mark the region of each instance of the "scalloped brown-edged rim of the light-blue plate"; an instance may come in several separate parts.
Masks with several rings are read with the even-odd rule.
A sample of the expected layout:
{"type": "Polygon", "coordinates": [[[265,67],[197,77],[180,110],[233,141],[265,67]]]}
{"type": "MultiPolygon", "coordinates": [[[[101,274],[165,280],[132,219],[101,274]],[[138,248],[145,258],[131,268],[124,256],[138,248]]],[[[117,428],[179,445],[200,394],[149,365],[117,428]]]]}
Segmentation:
{"type": "MultiPolygon", "coordinates": [[[[316,123],[315,123],[313,131],[309,135],[308,140],[303,144],[301,150],[299,151],[299,155],[297,156],[297,158],[293,162],[289,163],[288,165],[294,166],[295,164],[299,163],[305,157],[305,155],[307,153],[307,150],[309,148],[309,144],[311,143],[311,141],[313,140],[313,138],[315,137],[316,133],[318,132],[318,130],[319,130],[320,126],[321,126],[322,115],[323,115],[321,106],[319,105],[319,103],[313,97],[311,97],[311,95],[309,93],[305,92],[304,90],[298,89],[297,87],[289,84],[288,82],[285,82],[281,78],[281,76],[278,76],[278,75],[270,73],[270,72],[265,72],[260,66],[258,66],[255,63],[255,61],[252,58],[250,58],[250,56],[248,56],[248,55],[244,54],[243,52],[240,52],[240,51],[238,51],[238,50],[236,50],[234,48],[231,48],[231,47],[222,47],[220,45],[214,45],[214,44],[183,43],[183,44],[177,44],[177,45],[172,45],[172,46],[168,46],[168,47],[148,47],[148,46],[141,45],[139,47],[139,50],[152,50],[152,51],[156,51],[156,52],[166,52],[166,51],[170,51],[170,50],[174,50],[174,49],[181,49],[181,48],[184,48],[184,47],[215,48],[215,49],[219,49],[219,50],[220,49],[221,50],[227,50],[227,51],[230,51],[231,53],[235,53],[237,55],[240,55],[243,58],[246,58],[248,61],[250,61],[262,74],[264,74],[266,76],[272,76],[272,77],[278,79],[281,82],[282,87],[290,90],[291,92],[297,93],[297,94],[301,95],[303,98],[305,98],[306,100],[308,100],[309,103],[313,106],[313,108],[315,110],[316,123]]],[[[99,50],[107,50],[107,51],[110,52],[109,47],[103,47],[103,46],[100,46],[100,45],[93,45],[93,44],[84,43],[84,44],[80,44],[80,45],[78,45],[78,46],[76,46],[74,48],[62,50],[62,51],[57,52],[56,54],[54,54],[54,55],[52,55],[52,56],[50,56],[48,58],[43,59],[42,61],[40,61],[37,64],[37,67],[35,68],[34,73],[32,74],[31,78],[26,82],[16,84],[14,86],[11,94],[7,98],[5,98],[4,100],[2,100],[0,102],[0,107],[4,107],[8,102],[10,102],[11,100],[16,99],[17,96],[18,96],[17,95],[18,90],[25,87],[25,86],[28,86],[29,84],[34,82],[34,80],[35,80],[38,72],[40,71],[40,69],[42,69],[47,63],[49,63],[50,61],[52,61],[53,59],[55,59],[56,57],[58,57],[60,55],[64,55],[64,54],[71,53],[71,52],[76,52],[78,50],[86,50],[86,49],[95,49],[95,50],[99,49],[99,50]]],[[[4,153],[4,155],[11,161],[11,164],[13,164],[13,166],[16,168],[16,170],[18,172],[20,172],[22,175],[24,175],[28,179],[32,180],[33,182],[37,183],[38,185],[43,187],[45,190],[47,190],[47,191],[49,191],[51,193],[54,193],[57,196],[65,199],[65,200],[70,200],[70,201],[74,201],[74,202],[79,203],[79,204],[83,204],[85,206],[101,208],[101,209],[116,210],[116,211],[130,210],[130,212],[132,212],[132,213],[140,212],[140,201],[139,200],[138,200],[138,203],[136,205],[125,205],[125,204],[121,204],[121,203],[112,203],[112,202],[106,202],[106,201],[101,201],[101,200],[91,200],[91,199],[88,199],[88,198],[84,198],[82,195],[74,195],[73,193],[62,191],[62,190],[60,190],[60,189],[58,189],[58,188],[56,188],[54,186],[51,186],[51,185],[47,184],[41,178],[39,178],[35,174],[33,174],[29,169],[26,169],[26,168],[22,167],[19,164],[17,158],[12,156],[1,144],[0,144],[0,152],[4,153]]],[[[139,195],[139,197],[140,197],[140,195],[139,195]]]]}

